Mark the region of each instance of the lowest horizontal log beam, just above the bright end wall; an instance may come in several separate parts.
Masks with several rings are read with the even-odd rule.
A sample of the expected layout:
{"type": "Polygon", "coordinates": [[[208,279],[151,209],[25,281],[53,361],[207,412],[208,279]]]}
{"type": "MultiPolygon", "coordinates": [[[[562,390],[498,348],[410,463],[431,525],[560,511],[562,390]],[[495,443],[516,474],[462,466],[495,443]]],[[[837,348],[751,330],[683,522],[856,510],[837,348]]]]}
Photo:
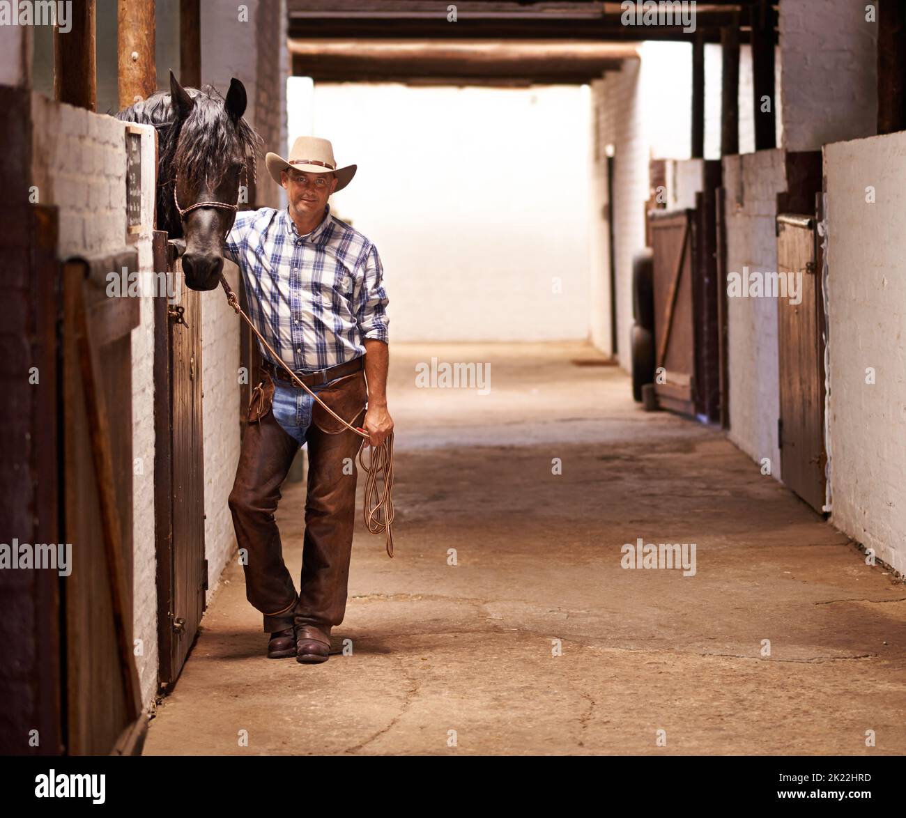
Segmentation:
{"type": "Polygon", "coordinates": [[[637,58],[618,43],[291,40],[293,73],[320,82],[590,82],[637,58]]]}

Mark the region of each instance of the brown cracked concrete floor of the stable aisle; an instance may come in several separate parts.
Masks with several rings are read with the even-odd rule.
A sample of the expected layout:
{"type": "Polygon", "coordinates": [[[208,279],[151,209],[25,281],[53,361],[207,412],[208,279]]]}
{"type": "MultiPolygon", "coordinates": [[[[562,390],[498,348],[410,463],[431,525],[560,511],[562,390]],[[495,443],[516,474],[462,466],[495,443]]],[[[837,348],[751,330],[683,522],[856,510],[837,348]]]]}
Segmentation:
{"type": "Polygon", "coordinates": [[[901,582],[718,430],[570,363],[594,354],[394,344],[397,555],[360,513],[352,655],[266,659],[232,563],[146,755],[906,753],[901,582]],[[490,394],[416,389],[431,356],[489,361],[490,394]],[[637,537],[697,544],[697,573],[623,569],[637,537]]]}

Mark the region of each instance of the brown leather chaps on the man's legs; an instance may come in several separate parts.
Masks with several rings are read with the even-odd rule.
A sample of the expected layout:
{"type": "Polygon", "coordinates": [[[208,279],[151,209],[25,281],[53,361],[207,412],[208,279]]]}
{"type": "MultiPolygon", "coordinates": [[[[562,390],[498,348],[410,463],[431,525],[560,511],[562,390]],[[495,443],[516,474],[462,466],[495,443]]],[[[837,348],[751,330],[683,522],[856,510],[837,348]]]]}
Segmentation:
{"type": "MultiPolygon", "coordinates": [[[[264,614],[265,631],[296,625],[299,638],[330,643],[331,629],[346,611],[361,437],[314,403],[305,433],[309,464],[297,593],[284,563],[274,515],[299,444],[275,419],[269,375],[264,373],[256,391],[229,496],[246,573],[246,598],[264,614]]],[[[341,418],[353,426],[361,424],[368,396],[364,371],[315,391],[341,418]]]]}

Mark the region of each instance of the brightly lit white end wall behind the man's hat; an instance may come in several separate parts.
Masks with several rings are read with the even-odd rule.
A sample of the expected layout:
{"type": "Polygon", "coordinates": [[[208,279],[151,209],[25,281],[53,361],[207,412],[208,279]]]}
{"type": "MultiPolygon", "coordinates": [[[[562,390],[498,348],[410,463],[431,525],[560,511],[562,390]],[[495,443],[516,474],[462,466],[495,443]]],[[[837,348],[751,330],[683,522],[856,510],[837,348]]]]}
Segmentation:
{"type": "Polygon", "coordinates": [[[587,91],[316,84],[297,128],[306,104],[359,166],[331,207],[378,246],[393,340],[587,337],[587,91]]]}

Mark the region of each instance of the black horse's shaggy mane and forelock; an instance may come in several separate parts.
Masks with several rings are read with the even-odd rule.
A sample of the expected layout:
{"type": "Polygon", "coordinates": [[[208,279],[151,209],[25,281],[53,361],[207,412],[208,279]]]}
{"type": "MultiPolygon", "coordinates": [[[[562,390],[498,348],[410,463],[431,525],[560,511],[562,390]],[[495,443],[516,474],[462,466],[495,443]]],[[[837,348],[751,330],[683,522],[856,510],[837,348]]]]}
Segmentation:
{"type": "Polygon", "coordinates": [[[176,172],[190,186],[207,182],[217,188],[238,153],[251,162],[255,178],[263,141],[244,118],[236,123],[226,113],[224,98],[213,85],[187,88],[195,102],[188,118],[177,122],[169,91],[158,91],[116,114],[116,119],[153,125],[158,131],[158,221],[171,237],[182,235],[181,220],[173,202],[176,172]],[[178,127],[175,127],[178,125],[178,127]]]}

